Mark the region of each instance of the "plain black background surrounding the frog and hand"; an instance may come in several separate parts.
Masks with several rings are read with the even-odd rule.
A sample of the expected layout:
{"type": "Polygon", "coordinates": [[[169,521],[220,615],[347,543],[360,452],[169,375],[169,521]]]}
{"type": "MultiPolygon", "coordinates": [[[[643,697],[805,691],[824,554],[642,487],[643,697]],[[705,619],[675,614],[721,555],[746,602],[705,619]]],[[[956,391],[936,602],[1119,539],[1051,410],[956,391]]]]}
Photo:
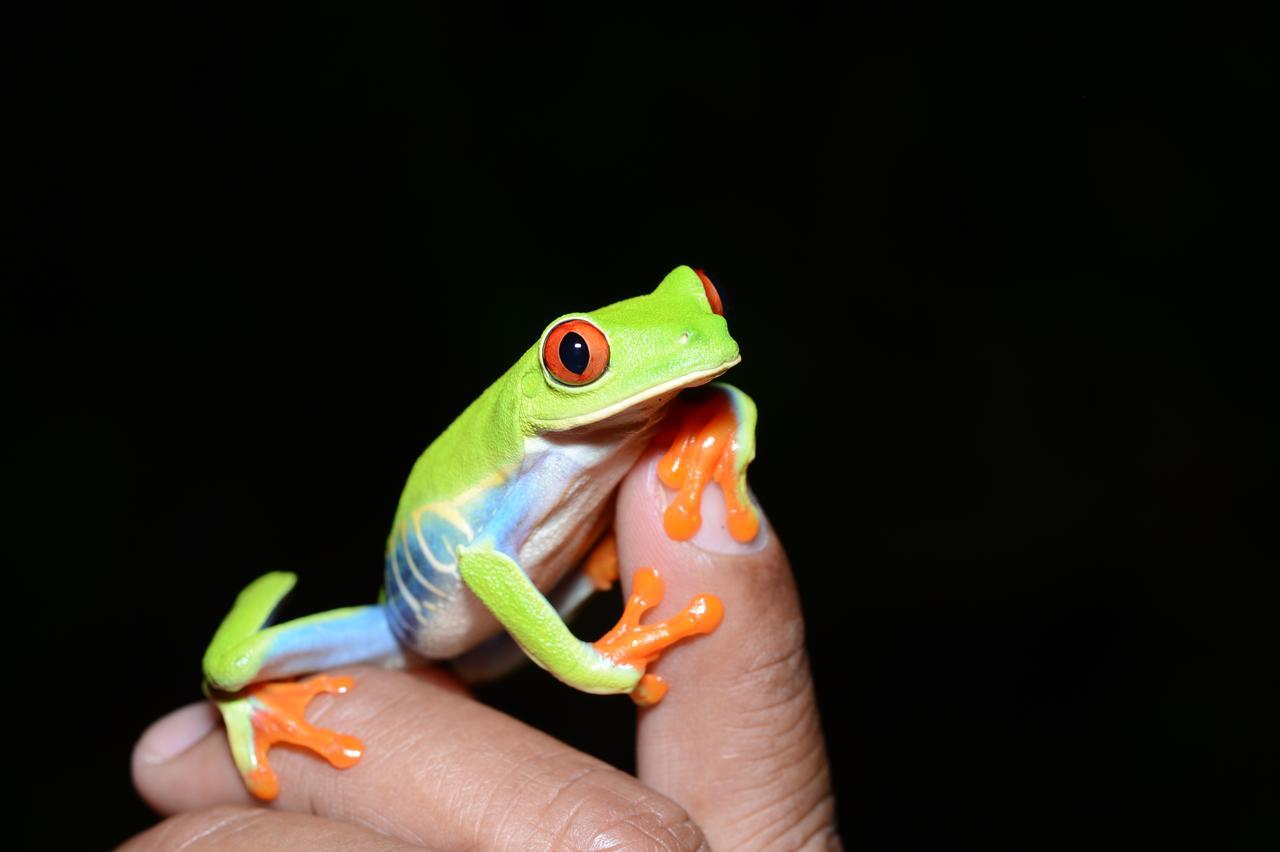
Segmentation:
{"type": "MultiPolygon", "coordinates": [[[[54,13],[15,78],[31,840],[148,825],[129,748],[234,594],[371,599],[426,443],[687,262],[850,848],[1276,848],[1272,20],[177,5],[54,13]]],[[[485,697],[631,765],[625,698],[485,697]]]]}

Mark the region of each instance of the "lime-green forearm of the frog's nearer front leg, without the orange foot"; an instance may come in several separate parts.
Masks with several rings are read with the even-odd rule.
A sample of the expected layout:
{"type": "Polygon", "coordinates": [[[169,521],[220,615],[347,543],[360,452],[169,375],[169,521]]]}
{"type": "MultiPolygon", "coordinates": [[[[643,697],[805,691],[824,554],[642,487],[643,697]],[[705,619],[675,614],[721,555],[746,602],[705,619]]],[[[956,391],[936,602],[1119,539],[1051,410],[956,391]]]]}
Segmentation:
{"type": "Polygon", "coordinates": [[[630,692],[641,672],[617,665],[582,642],[529,576],[492,548],[458,548],[463,582],[538,665],[584,692],[630,692]]]}

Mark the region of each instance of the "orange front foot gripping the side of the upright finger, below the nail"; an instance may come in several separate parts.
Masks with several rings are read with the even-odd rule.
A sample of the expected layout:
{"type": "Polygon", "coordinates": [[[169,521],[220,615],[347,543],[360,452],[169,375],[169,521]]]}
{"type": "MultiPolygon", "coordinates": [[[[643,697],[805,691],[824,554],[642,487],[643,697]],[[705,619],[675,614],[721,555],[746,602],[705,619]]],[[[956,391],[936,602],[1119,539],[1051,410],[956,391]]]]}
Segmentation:
{"type": "MultiPolygon", "coordinates": [[[[699,595],[689,606],[657,624],[641,624],[640,619],[662,603],[663,582],[653,568],[641,568],[631,585],[631,597],[617,626],[602,636],[593,647],[617,665],[630,665],[641,672],[658,656],[689,636],[710,633],[724,618],[724,605],[716,595],[699,595]]],[[[631,692],[636,704],[657,704],[667,693],[667,682],[655,674],[646,674],[631,692]]]]}

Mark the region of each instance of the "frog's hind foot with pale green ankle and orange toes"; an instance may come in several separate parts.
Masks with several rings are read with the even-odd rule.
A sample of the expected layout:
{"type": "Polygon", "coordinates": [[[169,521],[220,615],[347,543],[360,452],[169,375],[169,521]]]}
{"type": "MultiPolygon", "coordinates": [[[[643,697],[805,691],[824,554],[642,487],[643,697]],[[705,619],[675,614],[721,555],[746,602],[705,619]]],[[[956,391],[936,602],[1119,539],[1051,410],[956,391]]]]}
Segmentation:
{"type": "Polygon", "coordinates": [[[280,782],[268,752],[280,742],[314,751],[337,769],[360,761],[365,751],[360,739],[316,728],[303,716],[319,693],[342,695],[352,686],[355,682],[348,677],[319,674],[306,681],[256,683],[237,693],[212,696],[227,722],[236,766],[253,796],[273,800],[279,793],[280,782]]]}

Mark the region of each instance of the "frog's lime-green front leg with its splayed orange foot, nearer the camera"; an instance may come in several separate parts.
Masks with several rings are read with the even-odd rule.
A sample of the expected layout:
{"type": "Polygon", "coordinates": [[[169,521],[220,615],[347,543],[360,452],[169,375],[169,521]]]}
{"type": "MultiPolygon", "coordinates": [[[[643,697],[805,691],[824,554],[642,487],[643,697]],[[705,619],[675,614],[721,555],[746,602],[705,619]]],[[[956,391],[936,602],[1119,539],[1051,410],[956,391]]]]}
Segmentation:
{"type": "Polygon", "coordinates": [[[680,614],[658,624],[640,624],[662,600],[662,578],[641,568],[617,627],[599,641],[584,642],[570,632],[515,559],[492,546],[458,548],[458,572],[512,638],[538,665],[584,692],[626,692],[637,704],[653,704],[666,684],[646,675],[645,667],[687,636],[710,633],[724,608],[714,595],[700,595],[680,614]]]}

